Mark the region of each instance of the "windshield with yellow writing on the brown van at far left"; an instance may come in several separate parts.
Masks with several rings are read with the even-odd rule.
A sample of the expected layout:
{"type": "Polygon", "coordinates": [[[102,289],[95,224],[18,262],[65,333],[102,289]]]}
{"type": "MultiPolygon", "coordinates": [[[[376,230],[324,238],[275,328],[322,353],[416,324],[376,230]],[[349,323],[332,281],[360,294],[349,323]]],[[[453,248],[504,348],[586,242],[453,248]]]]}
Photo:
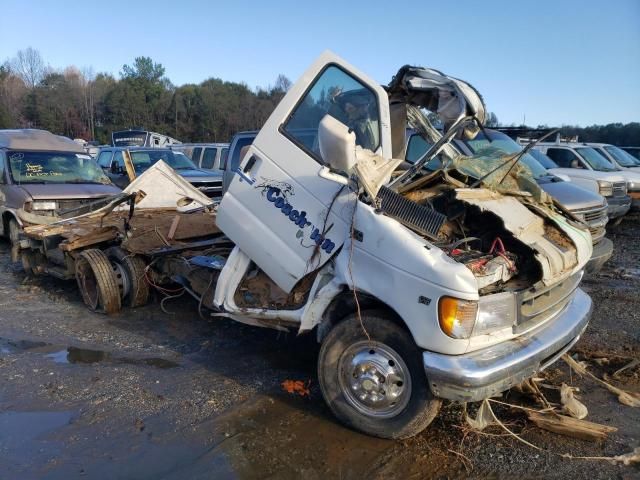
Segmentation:
{"type": "Polygon", "coordinates": [[[15,183],[99,183],[111,181],[87,154],[72,152],[8,152],[15,183]]]}

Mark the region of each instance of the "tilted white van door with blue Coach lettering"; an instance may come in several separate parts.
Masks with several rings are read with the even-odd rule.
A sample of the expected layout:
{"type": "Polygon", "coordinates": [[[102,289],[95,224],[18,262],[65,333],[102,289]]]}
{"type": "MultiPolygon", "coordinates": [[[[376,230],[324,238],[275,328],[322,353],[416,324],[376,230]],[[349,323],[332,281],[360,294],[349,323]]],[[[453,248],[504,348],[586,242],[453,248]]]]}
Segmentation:
{"type": "Polygon", "coordinates": [[[324,165],[317,140],[309,137],[315,131],[317,138],[326,114],[343,123],[366,116],[368,129],[361,129],[356,143],[390,157],[386,92],[327,52],[278,104],[218,209],[222,231],[287,292],[331,258],[350,233],[355,196],[346,178],[324,165]]]}

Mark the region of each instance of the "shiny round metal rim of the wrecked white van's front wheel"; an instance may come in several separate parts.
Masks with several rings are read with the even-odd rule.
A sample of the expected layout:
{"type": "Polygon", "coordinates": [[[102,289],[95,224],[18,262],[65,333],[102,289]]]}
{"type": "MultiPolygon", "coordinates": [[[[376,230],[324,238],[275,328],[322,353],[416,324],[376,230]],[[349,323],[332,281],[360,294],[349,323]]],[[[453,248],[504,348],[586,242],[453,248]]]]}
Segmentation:
{"type": "Polygon", "coordinates": [[[391,347],[370,341],[349,346],[338,363],[340,388],[358,412],[378,418],[398,415],[411,397],[411,376],[391,347]]]}

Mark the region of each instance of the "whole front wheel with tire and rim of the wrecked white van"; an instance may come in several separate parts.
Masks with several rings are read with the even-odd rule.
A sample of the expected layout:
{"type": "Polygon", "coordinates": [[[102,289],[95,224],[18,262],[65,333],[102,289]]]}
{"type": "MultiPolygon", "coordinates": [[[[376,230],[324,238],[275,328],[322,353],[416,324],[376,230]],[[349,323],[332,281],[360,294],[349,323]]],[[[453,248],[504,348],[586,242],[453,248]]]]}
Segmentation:
{"type": "Polygon", "coordinates": [[[429,389],[411,335],[384,312],[350,315],[329,332],[318,357],[325,401],[340,421],[382,438],[408,438],[435,418],[441,400],[429,389]]]}

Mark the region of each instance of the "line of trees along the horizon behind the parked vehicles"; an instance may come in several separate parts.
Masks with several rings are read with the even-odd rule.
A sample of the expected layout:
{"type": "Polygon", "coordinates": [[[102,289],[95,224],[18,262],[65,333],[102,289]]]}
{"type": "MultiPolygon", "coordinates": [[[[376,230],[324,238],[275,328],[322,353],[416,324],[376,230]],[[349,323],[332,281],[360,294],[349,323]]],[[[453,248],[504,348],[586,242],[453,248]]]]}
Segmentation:
{"type": "MultiPolygon", "coordinates": [[[[149,57],[124,65],[119,78],[91,68],[54,70],[29,47],[0,65],[0,128],[42,128],[109,143],[112,131],[140,126],[183,142],[224,142],[238,131],[259,129],[290,86],[284,75],[273,86],[255,89],[215,77],[175,86],[149,57]]],[[[490,113],[487,126],[506,125],[490,113]]],[[[640,145],[638,122],[565,125],[561,134],[640,145]]]]}

